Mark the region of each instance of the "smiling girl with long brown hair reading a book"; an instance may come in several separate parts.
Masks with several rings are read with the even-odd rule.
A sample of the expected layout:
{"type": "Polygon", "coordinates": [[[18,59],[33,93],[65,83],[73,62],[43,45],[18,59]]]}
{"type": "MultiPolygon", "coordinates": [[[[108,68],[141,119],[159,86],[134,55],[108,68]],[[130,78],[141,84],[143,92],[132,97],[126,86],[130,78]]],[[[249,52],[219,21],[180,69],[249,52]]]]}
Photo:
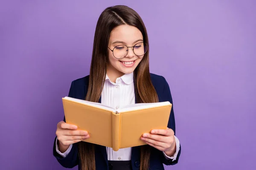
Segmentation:
{"type": "MultiPolygon", "coordinates": [[[[111,107],[134,103],[172,103],[166,79],[149,73],[148,35],[139,14],[127,6],[106,8],[99,17],[90,66],[90,76],[74,80],[69,96],[111,107]]],[[[97,122],[95,122],[97,123],[97,122]]],[[[61,121],[57,125],[53,154],[63,167],[79,170],[163,170],[180,156],[171,110],[168,128],[151,130],[141,140],[146,145],[113,151],[81,142],[88,132],[61,121]]]]}

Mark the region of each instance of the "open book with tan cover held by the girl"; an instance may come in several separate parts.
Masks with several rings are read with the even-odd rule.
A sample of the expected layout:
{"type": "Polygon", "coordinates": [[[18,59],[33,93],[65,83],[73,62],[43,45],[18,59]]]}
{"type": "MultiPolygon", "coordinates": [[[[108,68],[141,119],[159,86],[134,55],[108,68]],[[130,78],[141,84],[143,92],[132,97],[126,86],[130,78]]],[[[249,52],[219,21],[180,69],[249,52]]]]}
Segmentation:
{"type": "Polygon", "coordinates": [[[152,129],[166,129],[170,102],[138,103],[114,109],[97,102],[62,98],[66,122],[88,131],[84,142],[120,148],[146,144],[140,137],[152,129]]]}

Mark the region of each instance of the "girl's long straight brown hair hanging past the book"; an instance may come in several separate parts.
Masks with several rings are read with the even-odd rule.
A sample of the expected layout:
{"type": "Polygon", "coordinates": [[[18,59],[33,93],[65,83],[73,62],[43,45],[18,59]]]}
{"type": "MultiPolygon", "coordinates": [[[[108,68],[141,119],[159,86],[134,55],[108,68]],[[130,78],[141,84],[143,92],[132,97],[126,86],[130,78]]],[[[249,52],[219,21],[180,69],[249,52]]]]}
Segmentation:
{"type": "MultiPolygon", "coordinates": [[[[127,6],[106,8],[100,15],[96,25],[89,85],[85,98],[87,101],[99,102],[106,76],[110,33],[117,26],[124,24],[137,27],[143,35],[143,42],[148,44],[145,25],[136,11],[127,6]]],[[[134,88],[138,103],[158,102],[157,93],[150,79],[148,52],[149,50],[144,54],[140,64],[134,70],[134,88]]],[[[148,170],[150,148],[149,145],[140,147],[140,170],[148,170]]],[[[96,170],[94,154],[94,144],[79,142],[81,170],[96,170]]]]}

